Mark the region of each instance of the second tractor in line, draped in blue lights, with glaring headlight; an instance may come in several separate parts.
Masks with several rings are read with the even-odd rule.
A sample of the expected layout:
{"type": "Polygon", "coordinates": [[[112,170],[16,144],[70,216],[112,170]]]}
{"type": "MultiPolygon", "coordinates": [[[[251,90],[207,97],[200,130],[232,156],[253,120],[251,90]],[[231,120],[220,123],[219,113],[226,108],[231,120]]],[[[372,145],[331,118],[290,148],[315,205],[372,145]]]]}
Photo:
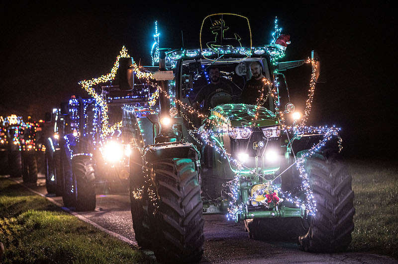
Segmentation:
{"type": "MultiPolygon", "coordinates": [[[[121,107],[131,106],[145,115],[149,87],[131,78],[126,81],[133,92],[111,83],[90,85],[92,98],[72,96],[46,113],[46,122],[53,128],[46,140],[47,192],[62,196],[67,207],[94,210],[97,189],[128,192],[130,146],[123,142],[120,130],[121,107]]],[[[86,84],[82,82],[84,88],[86,84]]]]}

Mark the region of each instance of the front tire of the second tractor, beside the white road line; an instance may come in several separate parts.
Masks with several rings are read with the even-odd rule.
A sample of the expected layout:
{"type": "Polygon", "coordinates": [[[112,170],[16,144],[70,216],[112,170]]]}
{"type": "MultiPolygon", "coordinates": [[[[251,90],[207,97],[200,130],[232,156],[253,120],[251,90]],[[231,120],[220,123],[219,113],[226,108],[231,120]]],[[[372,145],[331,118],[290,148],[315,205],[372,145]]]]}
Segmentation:
{"type": "Polygon", "coordinates": [[[75,207],[77,211],[93,211],[96,208],[96,178],[91,157],[82,155],[74,157],[72,163],[64,161],[64,205],[75,207]]]}

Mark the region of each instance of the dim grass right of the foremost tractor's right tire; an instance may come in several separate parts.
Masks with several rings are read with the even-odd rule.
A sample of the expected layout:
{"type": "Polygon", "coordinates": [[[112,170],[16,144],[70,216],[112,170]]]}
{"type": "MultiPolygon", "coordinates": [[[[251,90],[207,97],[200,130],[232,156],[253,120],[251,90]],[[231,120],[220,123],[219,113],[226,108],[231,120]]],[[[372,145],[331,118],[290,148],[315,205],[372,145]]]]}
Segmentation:
{"type": "Polygon", "coordinates": [[[382,162],[349,162],[354,198],[351,250],[398,259],[398,168],[382,162]]]}

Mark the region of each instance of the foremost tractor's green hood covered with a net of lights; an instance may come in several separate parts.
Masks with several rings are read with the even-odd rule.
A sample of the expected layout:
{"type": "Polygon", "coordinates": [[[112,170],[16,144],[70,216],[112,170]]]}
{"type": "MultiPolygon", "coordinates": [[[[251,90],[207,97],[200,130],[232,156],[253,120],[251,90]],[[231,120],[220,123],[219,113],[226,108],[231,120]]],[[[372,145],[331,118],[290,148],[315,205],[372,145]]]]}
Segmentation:
{"type": "Polygon", "coordinates": [[[226,123],[229,127],[241,128],[252,125],[252,119],[258,112],[256,127],[270,127],[279,125],[279,119],[275,113],[271,112],[265,107],[260,107],[256,110],[255,105],[246,104],[225,104],[218,105],[211,109],[210,119],[215,119],[217,122],[226,123]]]}

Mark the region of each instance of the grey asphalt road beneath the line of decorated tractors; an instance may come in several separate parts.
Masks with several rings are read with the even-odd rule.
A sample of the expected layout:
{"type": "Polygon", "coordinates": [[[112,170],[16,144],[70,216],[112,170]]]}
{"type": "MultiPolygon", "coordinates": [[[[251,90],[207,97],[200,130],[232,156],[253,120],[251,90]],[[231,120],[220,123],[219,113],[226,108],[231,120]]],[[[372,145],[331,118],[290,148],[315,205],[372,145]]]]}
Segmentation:
{"type": "MultiPolygon", "coordinates": [[[[42,177],[39,177],[37,185],[29,185],[29,188],[47,194],[42,177]]],[[[62,204],[61,197],[52,198],[62,204]]],[[[77,213],[135,241],[128,194],[97,195],[95,211],[77,213]]],[[[224,215],[205,215],[204,219],[202,263],[398,263],[385,256],[367,253],[306,253],[294,243],[267,243],[249,239],[243,223],[228,222],[224,215]]]]}

